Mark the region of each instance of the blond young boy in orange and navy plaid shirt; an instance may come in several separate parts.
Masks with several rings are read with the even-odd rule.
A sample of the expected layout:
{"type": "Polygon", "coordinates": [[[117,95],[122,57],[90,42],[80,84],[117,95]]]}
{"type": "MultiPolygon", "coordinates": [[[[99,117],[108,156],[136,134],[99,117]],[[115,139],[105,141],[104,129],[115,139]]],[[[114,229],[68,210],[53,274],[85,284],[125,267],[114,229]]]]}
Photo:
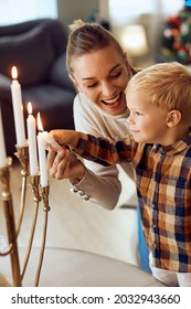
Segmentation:
{"type": "Polygon", "coordinates": [[[152,65],[130,79],[126,97],[131,136],[123,141],[52,136],[98,163],[132,162],[152,275],[191,287],[191,74],[179,63],[152,65]]]}

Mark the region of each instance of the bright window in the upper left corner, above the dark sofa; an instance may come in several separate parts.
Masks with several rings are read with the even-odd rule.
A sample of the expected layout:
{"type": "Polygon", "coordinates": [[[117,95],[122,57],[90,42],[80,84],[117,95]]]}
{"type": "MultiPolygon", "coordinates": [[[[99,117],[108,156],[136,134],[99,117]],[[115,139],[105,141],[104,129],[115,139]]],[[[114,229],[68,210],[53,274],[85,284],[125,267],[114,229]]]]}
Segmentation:
{"type": "Polygon", "coordinates": [[[57,18],[57,1],[0,0],[0,25],[38,18],[57,18]]]}

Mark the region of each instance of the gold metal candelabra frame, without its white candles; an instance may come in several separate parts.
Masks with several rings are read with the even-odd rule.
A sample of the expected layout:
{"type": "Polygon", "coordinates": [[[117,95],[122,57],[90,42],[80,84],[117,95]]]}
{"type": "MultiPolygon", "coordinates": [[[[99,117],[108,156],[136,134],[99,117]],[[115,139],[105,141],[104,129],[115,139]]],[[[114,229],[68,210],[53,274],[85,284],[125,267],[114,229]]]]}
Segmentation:
{"type": "Polygon", "coordinates": [[[11,160],[8,160],[8,164],[4,168],[0,169],[0,181],[2,184],[2,202],[4,207],[4,215],[6,215],[6,225],[7,225],[7,234],[9,246],[6,251],[0,251],[0,256],[10,255],[11,259],[11,270],[12,270],[12,281],[13,286],[21,287],[22,280],[24,278],[25,269],[30,259],[30,254],[33,244],[33,237],[35,233],[36,226],[36,219],[39,213],[39,205],[42,201],[43,203],[43,211],[44,211],[44,226],[42,231],[42,244],[40,251],[40,258],[36,268],[35,281],[34,286],[39,285],[40,274],[43,263],[44,249],[45,249],[45,241],[46,241],[46,230],[47,230],[47,212],[50,211],[49,206],[49,192],[50,187],[40,187],[40,174],[38,175],[30,175],[29,174],[29,148],[28,145],[25,147],[17,147],[15,156],[18,157],[20,164],[21,164],[21,175],[22,175],[22,190],[21,190],[21,202],[20,202],[20,215],[18,227],[15,227],[15,220],[14,220],[14,212],[13,212],[13,203],[12,203],[12,195],[10,190],[10,167],[11,160]],[[26,195],[26,184],[28,179],[30,179],[30,185],[33,192],[33,201],[35,204],[33,222],[31,226],[31,233],[28,242],[28,248],[25,253],[25,258],[22,267],[22,271],[20,270],[20,259],[19,259],[19,249],[18,249],[18,237],[20,234],[20,228],[23,221],[24,210],[25,210],[25,195],[26,195]]]}

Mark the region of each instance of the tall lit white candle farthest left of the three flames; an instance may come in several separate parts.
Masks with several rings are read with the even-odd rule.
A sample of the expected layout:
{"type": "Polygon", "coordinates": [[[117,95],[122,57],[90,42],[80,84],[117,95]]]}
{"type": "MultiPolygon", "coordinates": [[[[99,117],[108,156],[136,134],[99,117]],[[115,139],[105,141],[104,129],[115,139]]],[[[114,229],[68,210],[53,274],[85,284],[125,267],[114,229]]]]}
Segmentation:
{"type": "Polygon", "coordinates": [[[17,143],[19,147],[23,147],[25,146],[23,105],[21,98],[21,85],[17,81],[18,71],[15,66],[12,67],[12,78],[13,81],[11,84],[11,94],[12,94],[17,143]]]}

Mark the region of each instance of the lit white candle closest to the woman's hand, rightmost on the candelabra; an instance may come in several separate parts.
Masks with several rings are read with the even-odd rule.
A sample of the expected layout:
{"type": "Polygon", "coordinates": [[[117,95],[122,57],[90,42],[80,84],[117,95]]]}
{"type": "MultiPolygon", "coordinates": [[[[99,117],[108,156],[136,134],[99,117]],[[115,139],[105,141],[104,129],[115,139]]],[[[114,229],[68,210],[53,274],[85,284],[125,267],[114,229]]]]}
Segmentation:
{"type": "Polygon", "coordinates": [[[40,184],[41,187],[47,185],[47,169],[46,169],[46,156],[45,156],[45,139],[43,136],[43,127],[41,122],[40,114],[38,114],[38,150],[39,150],[39,168],[40,168],[40,184]]]}

